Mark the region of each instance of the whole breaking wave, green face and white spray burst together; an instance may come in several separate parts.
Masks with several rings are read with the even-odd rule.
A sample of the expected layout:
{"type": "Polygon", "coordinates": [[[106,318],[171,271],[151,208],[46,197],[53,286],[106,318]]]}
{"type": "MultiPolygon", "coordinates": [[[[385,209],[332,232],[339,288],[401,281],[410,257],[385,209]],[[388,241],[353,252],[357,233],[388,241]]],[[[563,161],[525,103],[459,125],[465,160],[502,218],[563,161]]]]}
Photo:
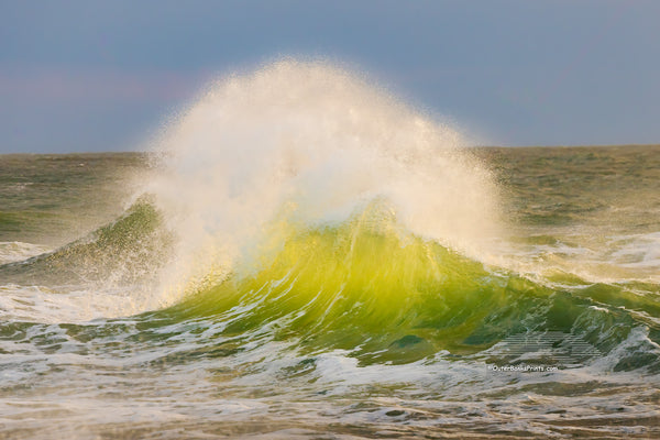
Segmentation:
{"type": "MultiPolygon", "coordinates": [[[[492,173],[457,131],[360,75],[284,59],[230,76],[150,148],[117,220],[0,266],[43,286],[32,319],[210,320],[364,364],[475,355],[529,332],[607,353],[646,326],[617,365],[657,367],[660,310],[637,294],[649,286],[493,264],[506,224],[492,173]]],[[[6,307],[30,319],[23,294],[6,307]]]]}

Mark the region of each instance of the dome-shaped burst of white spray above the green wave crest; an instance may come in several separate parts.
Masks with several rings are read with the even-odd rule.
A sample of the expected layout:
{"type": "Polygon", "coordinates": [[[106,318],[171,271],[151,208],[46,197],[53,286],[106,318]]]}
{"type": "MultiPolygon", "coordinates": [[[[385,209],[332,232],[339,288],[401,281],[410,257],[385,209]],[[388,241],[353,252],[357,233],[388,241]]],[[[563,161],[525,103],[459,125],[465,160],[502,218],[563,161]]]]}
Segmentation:
{"type": "Polygon", "coordinates": [[[474,254],[497,230],[497,197],[463,144],[323,62],[286,59],[220,80],[153,147],[163,173],[147,190],[179,237],[166,284],[277,248],[275,221],[279,232],[340,222],[375,198],[411,232],[474,254]]]}

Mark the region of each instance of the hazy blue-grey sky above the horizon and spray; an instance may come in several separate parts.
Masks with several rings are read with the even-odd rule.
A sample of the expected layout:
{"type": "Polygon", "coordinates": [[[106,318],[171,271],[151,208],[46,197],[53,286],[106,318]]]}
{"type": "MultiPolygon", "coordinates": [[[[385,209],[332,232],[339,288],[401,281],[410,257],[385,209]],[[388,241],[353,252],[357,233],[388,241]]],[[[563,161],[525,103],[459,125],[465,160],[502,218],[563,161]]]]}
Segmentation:
{"type": "Polygon", "coordinates": [[[209,80],[355,66],[483,145],[660,143],[657,0],[0,0],[0,153],[131,151],[209,80]]]}

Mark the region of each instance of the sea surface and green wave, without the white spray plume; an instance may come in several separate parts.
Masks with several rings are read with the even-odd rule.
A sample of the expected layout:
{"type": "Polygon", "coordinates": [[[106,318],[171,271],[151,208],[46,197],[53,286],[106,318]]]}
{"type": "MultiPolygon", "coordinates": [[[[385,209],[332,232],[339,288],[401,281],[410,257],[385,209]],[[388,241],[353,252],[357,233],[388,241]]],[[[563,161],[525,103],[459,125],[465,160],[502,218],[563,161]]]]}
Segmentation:
{"type": "Polygon", "coordinates": [[[0,437],[660,436],[660,146],[468,155],[481,256],[375,198],[230,266],[146,155],[0,156],[0,437]]]}

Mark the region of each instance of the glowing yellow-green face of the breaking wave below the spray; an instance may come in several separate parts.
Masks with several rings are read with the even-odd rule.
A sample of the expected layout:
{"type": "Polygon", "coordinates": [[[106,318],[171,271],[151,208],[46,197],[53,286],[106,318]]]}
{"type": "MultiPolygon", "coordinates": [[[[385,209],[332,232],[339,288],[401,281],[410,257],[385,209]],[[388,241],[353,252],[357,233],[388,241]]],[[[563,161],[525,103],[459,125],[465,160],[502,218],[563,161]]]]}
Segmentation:
{"type": "MultiPolygon", "coordinates": [[[[554,289],[486,268],[366,209],[340,226],[290,233],[260,270],[234,272],[163,314],[224,322],[224,336],[266,332],[297,350],[345,350],[371,364],[471,355],[529,332],[578,336],[606,353],[642,323],[623,304],[659,311],[620,286],[554,289]],[[604,296],[619,300],[594,307],[604,296]]],[[[620,367],[657,363],[639,355],[620,367]]]]}

